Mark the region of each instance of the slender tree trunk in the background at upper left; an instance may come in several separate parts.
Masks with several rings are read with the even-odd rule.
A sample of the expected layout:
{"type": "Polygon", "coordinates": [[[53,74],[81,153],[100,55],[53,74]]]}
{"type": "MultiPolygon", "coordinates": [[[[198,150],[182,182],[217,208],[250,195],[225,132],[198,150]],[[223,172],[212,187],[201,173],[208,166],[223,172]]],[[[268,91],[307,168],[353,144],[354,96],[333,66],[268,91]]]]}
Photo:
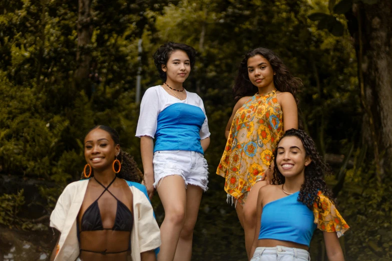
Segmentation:
{"type": "MultiPolygon", "coordinates": [[[[78,69],[75,71],[75,82],[82,84],[89,78],[91,51],[87,45],[91,43],[93,35],[93,26],[91,24],[91,0],[79,0],[79,13],[78,13],[78,50],[76,53],[76,60],[79,64],[78,69]]],[[[90,94],[89,89],[86,92],[90,94]]]]}

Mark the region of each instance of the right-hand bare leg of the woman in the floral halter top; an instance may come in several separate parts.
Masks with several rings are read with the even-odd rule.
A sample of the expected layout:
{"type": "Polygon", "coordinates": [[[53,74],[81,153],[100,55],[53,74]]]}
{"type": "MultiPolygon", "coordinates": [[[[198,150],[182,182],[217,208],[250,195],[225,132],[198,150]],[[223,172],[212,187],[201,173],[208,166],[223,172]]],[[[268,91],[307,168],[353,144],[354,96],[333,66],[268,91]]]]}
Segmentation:
{"type": "Polygon", "coordinates": [[[256,222],[260,222],[260,220],[256,220],[256,207],[257,207],[257,195],[259,193],[260,187],[267,184],[267,181],[258,181],[256,184],[252,186],[248,193],[248,197],[246,198],[244,208],[243,208],[243,225],[245,231],[245,248],[246,253],[248,254],[250,248],[252,247],[254,233],[256,229],[256,222]]]}

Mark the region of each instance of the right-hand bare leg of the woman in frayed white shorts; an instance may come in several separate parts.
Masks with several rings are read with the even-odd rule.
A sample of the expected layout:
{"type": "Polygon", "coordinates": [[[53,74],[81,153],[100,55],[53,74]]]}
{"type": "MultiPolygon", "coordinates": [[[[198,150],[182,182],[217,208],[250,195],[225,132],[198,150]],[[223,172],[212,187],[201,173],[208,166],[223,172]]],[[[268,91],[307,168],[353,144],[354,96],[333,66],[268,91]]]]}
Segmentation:
{"type": "Polygon", "coordinates": [[[191,261],[193,229],[195,228],[202,194],[203,190],[199,186],[188,184],[185,223],[178,240],[174,261],[191,261]]]}

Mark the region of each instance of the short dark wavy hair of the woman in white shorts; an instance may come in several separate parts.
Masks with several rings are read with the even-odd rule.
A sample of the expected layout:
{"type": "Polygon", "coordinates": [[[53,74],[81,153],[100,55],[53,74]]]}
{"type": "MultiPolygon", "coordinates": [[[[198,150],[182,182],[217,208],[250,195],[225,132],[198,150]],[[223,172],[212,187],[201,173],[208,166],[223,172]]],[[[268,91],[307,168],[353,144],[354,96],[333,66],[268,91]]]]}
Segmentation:
{"type": "Polygon", "coordinates": [[[155,51],[153,58],[154,58],[155,66],[158,69],[159,76],[165,81],[167,76],[166,76],[166,72],[162,70],[162,64],[166,65],[167,61],[170,58],[170,55],[173,53],[173,51],[176,50],[183,50],[188,54],[191,63],[191,68],[193,68],[193,65],[195,65],[197,52],[192,46],[189,46],[185,43],[177,43],[171,41],[162,44],[155,51]]]}

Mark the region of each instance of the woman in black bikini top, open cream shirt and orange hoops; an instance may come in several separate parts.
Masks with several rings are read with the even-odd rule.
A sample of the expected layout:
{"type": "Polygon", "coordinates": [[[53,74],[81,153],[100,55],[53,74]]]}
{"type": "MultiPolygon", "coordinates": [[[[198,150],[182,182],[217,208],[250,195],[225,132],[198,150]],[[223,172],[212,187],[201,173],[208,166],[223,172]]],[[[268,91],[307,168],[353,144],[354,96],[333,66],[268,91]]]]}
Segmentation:
{"type": "Polygon", "coordinates": [[[69,184],[51,214],[60,231],[53,260],[156,260],[160,231],[142,173],[120,149],[111,127],[98,125],[85,137],[83,179],[69,184]]]}

